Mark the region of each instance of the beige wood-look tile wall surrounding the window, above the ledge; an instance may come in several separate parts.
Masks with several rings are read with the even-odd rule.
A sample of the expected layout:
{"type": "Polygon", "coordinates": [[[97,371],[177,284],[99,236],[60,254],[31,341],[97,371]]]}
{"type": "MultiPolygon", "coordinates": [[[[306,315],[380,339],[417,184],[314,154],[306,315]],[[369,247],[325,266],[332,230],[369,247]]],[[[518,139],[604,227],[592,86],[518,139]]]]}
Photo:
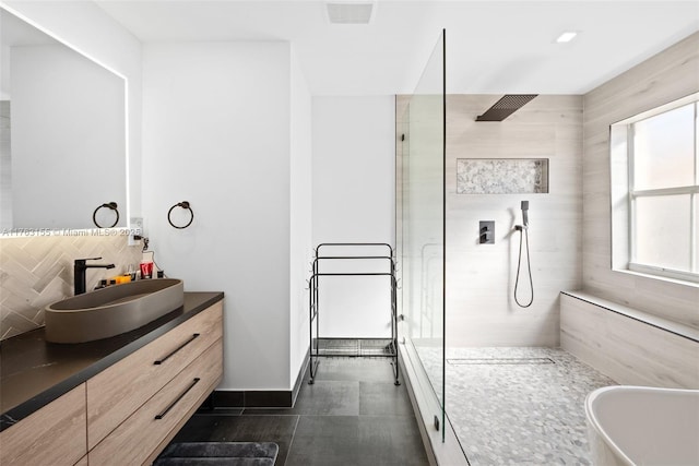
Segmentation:
{"type": "Polygon", "coordinates": [[[609,124],[699,92],[699,33],[584,96],[584,290],[699,328],[699,287],[612,271],[609,124]]]}

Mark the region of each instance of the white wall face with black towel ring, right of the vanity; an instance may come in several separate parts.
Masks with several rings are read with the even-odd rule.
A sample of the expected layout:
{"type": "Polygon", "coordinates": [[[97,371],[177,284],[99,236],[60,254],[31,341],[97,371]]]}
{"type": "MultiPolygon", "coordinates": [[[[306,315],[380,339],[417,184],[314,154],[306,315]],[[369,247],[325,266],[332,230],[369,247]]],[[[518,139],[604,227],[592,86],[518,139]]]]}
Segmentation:
{"type": "Polygon", "coordinates": [[[308,144],[291,129],[308,124],[291,65],[286,43],[144,47],[145,226],[167,275],[226,295],[223,390],[288,390],[296,378],[291,251],[305,241],[291,216],[306,215],[307,193],[292,187],[307,174],[291,164],[308,144]],[[178,230],[166,214],[181,201],[196,218],[178,230]]]}

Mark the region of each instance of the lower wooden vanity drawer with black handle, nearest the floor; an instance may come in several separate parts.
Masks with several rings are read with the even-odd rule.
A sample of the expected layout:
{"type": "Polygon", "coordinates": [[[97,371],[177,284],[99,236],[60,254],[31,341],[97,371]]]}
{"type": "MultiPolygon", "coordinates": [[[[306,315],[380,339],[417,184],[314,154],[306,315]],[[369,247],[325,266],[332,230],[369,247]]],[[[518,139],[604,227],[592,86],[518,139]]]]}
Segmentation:
{"type": "Polygon", "coordinates": [[[223,342],[194,362],[88,453],[94,465],[150,464],[221,382],[223,342]]]}

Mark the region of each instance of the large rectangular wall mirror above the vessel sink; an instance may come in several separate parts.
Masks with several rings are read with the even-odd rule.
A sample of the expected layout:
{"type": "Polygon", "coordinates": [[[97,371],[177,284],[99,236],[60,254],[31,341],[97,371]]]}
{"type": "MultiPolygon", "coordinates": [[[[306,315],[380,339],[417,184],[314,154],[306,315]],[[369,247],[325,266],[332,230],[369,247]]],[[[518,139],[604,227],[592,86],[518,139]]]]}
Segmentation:
{"type": "Polygon", "coordinates": [[[122,76],[0,8],[0,117],[1,232],[127,226],[122,76]]]}

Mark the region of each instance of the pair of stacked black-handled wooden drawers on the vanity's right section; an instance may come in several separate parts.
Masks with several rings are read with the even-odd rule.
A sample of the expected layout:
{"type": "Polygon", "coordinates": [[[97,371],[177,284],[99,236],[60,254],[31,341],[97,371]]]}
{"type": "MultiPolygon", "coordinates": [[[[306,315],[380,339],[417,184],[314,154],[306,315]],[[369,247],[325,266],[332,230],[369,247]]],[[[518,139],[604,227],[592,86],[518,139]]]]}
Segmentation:
{"type": "Polygon", "coordinates": [[[223,373],[217,302],[87,381],[87,459],[147,464],[223,373]]]}

